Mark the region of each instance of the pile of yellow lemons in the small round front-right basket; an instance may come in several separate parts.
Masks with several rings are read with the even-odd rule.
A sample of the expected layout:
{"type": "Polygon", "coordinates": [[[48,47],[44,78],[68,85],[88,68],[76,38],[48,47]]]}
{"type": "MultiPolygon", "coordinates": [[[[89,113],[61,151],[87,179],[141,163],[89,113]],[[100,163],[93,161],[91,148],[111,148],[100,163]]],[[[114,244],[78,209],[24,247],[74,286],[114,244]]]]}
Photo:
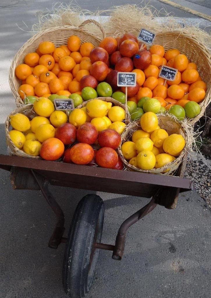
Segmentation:
{"type": "Polygon", "coordinates": [[[185,146],[183,136],[168,135],[165,129],[159,127],[156,114],[143,114],[140,125],[142,129],[132,134],[132,141],[126,141],[121,146],[122,154],[129,164],[141,170],[151,170],[164,167],[179,156],[185,146]]]}

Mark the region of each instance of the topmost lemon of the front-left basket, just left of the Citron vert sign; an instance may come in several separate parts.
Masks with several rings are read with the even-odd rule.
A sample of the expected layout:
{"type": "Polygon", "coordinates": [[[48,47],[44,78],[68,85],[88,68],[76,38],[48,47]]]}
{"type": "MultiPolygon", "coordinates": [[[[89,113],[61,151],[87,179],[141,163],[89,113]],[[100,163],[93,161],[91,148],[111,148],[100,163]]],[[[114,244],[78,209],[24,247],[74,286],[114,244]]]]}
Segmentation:
{"type": "Polygon", "coordinates": [[[39,116],[50,117],[54,111],[54,105],[48,98],[39,97],[34,102],[34,110],[39,116]]]}

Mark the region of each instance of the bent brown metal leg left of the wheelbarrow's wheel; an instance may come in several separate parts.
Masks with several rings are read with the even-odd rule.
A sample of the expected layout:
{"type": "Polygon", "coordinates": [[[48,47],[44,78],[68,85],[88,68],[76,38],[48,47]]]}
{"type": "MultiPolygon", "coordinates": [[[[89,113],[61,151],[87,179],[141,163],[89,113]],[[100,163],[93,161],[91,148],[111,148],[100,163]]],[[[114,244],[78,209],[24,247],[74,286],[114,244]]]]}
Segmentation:
{"type": "Polygon", "coordinates": [[[55,198],[53,198],[53,196],[49,192],[48,182],[45,181],[44,186],[42,187],[35,172],[33,170],[31,170],[31,173],[34,176],[35,181],[39,185],[40,190],[41,190],[44,198],[46,199],[46,202],[49,204],[49,206],[51,207],[51,209],[53,210],[53,212],[56,215],[56,225],[53,230],[52,236],[49,240],[48,247],[57,249],[61,242],[66,242],[66,238],[62,237],[64,230],[65,230],[65,228],[64,228],[64,213],[63,213],[62,209],[60,208],[59,204],[57,203],[57,201],[55,200],[55,198]]]}

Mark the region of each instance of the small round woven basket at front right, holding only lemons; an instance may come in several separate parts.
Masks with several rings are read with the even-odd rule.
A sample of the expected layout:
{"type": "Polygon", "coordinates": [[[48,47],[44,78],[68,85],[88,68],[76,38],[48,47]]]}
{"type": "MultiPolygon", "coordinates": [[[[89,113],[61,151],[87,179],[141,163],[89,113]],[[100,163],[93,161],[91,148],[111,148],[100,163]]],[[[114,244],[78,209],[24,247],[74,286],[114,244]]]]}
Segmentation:
{"type": "Polygon", "coordinates": [[[179,164],[181,164],[182,158],[185,155],[185,152],[187,150],[187,141],[188,141],[187,133],[185,131],[185,128],[184,128],[182,122],[177,122],[173,116],[160,114],[160,115],[157,115],[157,117],[158,117],[158,125],[160,126],[160,128],[165,129],[169,135],[170,134],[181,134],[185,139],[185,147],[183,148],[180,155],[173,162],[165,165],[164,167],[160,167],[158,169],[152,169],[152,170],[141,170],[141,169],[134,167],[133,165],[128,163],[128,161],[124,158],[124,156],[122,154],[121,146],[124,142],[131,141],[132,134],[134,133],[134,131],[141,129],[140,121],[132,122],[131,124],[129,124],[127,126],[125,131],[122,133],[122,143],[121,143],[120,147],[118,148],[118,153],[119,153],[125,167],[130,171],[159,174],[159,175],[164,175],[164,176],[172,176],[176,172],[177,168],[179,167],[179,164]],[[163,173],[166,170],[168,170],[168,171],[163,173]]]}

